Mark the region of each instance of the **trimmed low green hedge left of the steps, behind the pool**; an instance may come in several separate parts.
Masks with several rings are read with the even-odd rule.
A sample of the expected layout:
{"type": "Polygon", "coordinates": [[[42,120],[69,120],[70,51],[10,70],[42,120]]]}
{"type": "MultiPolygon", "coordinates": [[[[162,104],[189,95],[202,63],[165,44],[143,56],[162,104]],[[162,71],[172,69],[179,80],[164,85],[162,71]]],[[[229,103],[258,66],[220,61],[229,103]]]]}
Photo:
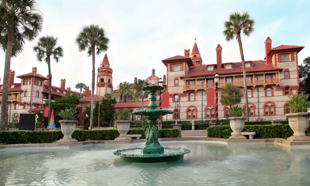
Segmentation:
{"type": "MultiPolygon", "coordinates": [[[[145,139],[143,129],[130,129],[127,134],[141,134],[145,139]]],[[[78,141],[114,140],[119,136],[117,129],[108,130],[76,130],[72,138],[78,141]]],[[[159,138],[176,138],[178,129],[160,129],[159,138]]],[[[53,143],[63,138],[61,131],[0,131],[0,144],[36,144],[53,143]]]]}

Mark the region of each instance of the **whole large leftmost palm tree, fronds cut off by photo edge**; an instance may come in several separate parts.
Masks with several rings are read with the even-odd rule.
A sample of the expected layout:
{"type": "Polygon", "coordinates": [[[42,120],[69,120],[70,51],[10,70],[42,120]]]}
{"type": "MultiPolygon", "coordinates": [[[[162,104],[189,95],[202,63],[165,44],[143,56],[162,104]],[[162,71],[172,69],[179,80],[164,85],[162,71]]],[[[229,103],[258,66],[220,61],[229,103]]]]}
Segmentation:
{"type": "Polygon", "coordinates": [[[43,16],[36,9],[35,0],[0,1],[0,44],[5,54],[0,128],[5,130],[7,120],[9,72],[11,57],[20,53],[25,40],[32,41],[42,30],[43,16]]]}

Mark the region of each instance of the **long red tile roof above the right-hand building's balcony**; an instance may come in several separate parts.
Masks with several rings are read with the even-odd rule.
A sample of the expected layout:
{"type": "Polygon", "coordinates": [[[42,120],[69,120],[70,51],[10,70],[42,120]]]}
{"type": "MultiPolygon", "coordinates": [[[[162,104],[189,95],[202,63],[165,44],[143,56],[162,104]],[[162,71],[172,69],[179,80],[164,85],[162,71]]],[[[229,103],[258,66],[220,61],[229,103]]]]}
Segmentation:
{"type": "MultiPolygon", "coordinates": [[[[252,61],[252,67],[246,68],[246,72],[263,72],[263,71],[272,71],[272,70],[283,70],[280,67],[275,67],[272,64],[266,64],[263,60],[252,61]]],[[[208,64],[210,65],[210,64],[208,64]]],[[[221,74],[234,74],[242,73],[241,62],[234,63],[232,69],[215,69],[207,70],[208,65],[201,65],[197,67],[191,67],[188,69],[187,75],[181,76],[180,78],[189,78],[189,77],[199,77],[199,76],[210,76],[218,73],[221,74]]]]}

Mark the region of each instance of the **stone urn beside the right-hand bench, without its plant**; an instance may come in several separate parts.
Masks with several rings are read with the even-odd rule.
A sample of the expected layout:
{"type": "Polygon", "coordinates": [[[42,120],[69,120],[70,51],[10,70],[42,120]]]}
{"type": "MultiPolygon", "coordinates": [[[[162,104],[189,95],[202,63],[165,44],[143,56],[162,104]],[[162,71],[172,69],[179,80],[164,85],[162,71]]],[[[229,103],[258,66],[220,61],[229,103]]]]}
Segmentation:
{"type": "Polygon", "coordinates": [[[241,135],[246,118],[247,117],[228,117],[230,128],[233,131],[229,139],[246,139],[244,135],[241,135]]]}

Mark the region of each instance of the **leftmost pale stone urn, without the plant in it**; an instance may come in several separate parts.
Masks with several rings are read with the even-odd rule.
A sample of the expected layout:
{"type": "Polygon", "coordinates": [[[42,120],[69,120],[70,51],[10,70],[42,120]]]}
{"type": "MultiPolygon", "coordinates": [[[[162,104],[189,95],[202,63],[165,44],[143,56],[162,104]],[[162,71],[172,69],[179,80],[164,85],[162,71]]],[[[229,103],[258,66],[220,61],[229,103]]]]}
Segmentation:
{"type": "Polygon", "coordinates": [[[64,138],[58,140],[58,143],[72,143],[78,142],[78,140],[72,138],[72,134],[75,131],[75,126],[78,123],[77,120],[59,120],[61,125],[61,132],[64,134],[64,138]]]}

